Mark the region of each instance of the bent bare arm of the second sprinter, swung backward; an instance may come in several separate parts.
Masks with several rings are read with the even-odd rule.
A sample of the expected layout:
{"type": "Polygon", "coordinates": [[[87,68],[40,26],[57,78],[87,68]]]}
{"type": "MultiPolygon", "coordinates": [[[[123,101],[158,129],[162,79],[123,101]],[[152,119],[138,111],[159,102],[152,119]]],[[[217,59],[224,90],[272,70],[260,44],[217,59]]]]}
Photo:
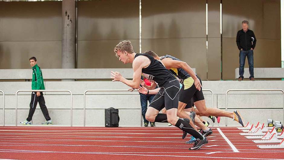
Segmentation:
{"type": "Polygon", "coordinates": [[[194,79],[194,85],[195,85],[196,89],[198,91],[201,90],[202,85],[201,85],[199,79],[196,77],[194,71],[186,62],[173,60],[171,58],[164,58],[164,59],[162,59],[162,62],[165,65],[166,68],[182,68],[182,69],[184,69],[194,79]]]}

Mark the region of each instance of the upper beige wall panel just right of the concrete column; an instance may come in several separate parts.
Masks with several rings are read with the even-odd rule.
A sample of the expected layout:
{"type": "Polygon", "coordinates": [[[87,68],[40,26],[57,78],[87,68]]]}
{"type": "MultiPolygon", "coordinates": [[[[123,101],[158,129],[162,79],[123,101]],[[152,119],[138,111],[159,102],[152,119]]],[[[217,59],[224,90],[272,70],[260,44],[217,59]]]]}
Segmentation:
{"type": "Polygon", "coordinates": [[[79,1],[78,10],[78,40],[139,39],[139,0],[79,1]]]}

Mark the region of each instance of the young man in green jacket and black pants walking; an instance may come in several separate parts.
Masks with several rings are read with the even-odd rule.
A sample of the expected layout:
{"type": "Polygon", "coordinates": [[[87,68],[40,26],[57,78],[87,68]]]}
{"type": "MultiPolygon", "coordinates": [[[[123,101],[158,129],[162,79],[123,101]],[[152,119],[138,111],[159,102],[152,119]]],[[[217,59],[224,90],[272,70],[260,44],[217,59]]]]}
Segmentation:
{"type": "MultiPolygon", "coordinates": [[[[42,77],[42,72],[39,66],[37,66],[37,59],[35,57],[30,58],[30,64],[33,68],[33,78],[31,82],[32,90],[45,90],[44,88],[44,79],[42,77]]],[[[44,96],[42,92],[32,92],[31,94],[31,103],[30,103],[30,111],[27,117],[27,120],[20,122],[22,125],[31,125],[31,120],[34,115],[34,111],[37,107],[37,102],[40,104],[40,109],[44,114],[46,121],[41,123],[43,125],[51,125],[53,124],[52,120],[50,120],[47,107],[45,106],[44,96]]]]}

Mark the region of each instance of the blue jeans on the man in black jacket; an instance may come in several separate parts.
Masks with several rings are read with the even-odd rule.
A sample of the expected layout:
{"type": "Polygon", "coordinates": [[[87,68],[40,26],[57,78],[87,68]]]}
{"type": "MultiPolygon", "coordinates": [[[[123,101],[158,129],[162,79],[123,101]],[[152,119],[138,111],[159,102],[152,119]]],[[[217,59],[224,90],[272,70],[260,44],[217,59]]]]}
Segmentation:
{"type": "Polygon", "coordinates": [[[244,51],[241,50],[240,51],[240,77],[244,78],[244,63],[246,62],[246,56],[247,56],[247,60],[249,62],[249,66],[250,66],[250,78],[254,77],[253,75],[253,50],[248,50],[248,51],[244,51]]]}

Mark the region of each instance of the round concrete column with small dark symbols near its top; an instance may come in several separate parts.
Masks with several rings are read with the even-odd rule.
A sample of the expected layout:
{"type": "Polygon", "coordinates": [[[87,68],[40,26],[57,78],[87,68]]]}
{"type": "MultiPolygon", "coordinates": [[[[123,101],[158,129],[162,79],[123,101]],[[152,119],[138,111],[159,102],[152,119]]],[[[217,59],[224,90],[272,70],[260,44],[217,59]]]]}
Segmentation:
{"type": "Polygon", "coordinates": [[[62,68],[75,68],[75,0],[62,1],[62,68]]]}

